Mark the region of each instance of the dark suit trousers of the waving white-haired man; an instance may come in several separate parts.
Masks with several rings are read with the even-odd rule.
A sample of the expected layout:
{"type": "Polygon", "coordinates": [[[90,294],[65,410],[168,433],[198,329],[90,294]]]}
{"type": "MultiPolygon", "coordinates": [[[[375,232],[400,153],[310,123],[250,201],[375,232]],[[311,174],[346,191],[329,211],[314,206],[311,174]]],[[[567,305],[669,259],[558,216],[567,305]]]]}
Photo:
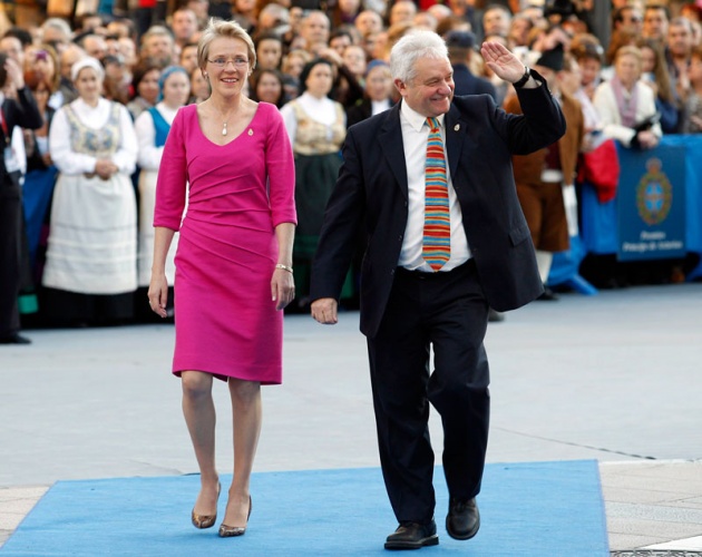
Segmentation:
{"type": "Polygon", "coordinates": [[[445,273],[396,271],[368,350],[380,461],[398,521],[433,517],[429,403],[443,424],[450,497],[480,490],[489,422],[487,315],[472,261],[445,273]]]}

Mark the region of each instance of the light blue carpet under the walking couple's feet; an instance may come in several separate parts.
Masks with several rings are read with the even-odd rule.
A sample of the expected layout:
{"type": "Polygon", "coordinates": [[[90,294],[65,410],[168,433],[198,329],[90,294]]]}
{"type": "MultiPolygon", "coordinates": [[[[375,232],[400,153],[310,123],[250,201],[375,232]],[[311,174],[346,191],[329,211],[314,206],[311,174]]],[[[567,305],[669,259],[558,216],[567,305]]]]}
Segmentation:
{"type": "MultiPolygon", "coordinates": [[[[223,477],[223,487],[230,480],[223,477]]],[[[608,555],[594,460],[489,465],[478,498],[482,525],[469,541],[443,528],[441,468],[435,485],[440,543],[422,556],[608,555]]],[[[59,481],[0,555],[390,555],[382,544],[397,524],[378,468],[255,473],[250,528],[241,538],[191,526],[198,488],[198,476],[59,481]]],[[[221,514],[225,505],[222,497],[221,514]]]]}

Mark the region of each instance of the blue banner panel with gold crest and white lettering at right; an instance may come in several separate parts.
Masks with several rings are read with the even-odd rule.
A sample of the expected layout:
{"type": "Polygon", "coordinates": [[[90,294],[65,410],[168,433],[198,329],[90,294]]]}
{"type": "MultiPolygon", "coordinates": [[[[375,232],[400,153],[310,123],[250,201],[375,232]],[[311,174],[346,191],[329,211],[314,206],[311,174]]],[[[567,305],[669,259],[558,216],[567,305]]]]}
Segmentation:
{"type": "Polygon", "coordinates": [[[685,256],[685,148],[620,147],[620,261],[685,256]]]}

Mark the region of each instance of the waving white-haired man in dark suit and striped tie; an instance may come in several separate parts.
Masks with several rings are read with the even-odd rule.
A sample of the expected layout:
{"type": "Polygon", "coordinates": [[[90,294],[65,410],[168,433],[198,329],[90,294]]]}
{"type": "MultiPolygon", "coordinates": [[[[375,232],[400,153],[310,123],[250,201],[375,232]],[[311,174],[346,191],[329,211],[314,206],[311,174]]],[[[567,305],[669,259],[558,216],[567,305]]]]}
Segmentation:
{"type": "Polygon", "coordinates": [[[383,478],[400,522],[388,549],[438,544],[429,403],[443,424],[448,534],[477,534],[489,414],[482,344],[488,306],[514,310],[542,293],[511,155],[550,145],[565,124],[538,74],[499,43],[486,42],[481,52],[496,75],[518,88],[525,116],[506,114],[486,95],[454,98],[451,65],[436,33],[400,39],[390,67],[401,101],[349,129],[312,270],[312,316],[337,323],[357,228],[364,223],[361,331],[383,478]],[[431,131],[428,117],[439,120],[429,123],[431,131]],[[445,156],[436,155],[437,145],[446,145],[445,156]],[[432,172],[426,188],[427,158],[432,172]],[[442,266],[429,257],[430,265],[425,252],[431,235],[425,189],[432,190],[440,160],[450,215],[450,255],[442,266]]]}

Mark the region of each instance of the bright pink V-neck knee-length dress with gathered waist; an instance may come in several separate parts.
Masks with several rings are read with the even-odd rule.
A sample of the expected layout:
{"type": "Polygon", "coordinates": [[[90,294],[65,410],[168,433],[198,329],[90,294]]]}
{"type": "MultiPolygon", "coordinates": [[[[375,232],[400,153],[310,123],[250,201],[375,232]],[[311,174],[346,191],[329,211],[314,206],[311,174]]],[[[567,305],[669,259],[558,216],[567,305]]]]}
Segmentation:
{"type": "Polygon", "coordinates": [[[275,226],[296,223],[294,184],[290,139],[273,105],[260,102],[251,124],[223,146],[203,134],[196,105],[176,115],[154,212],[154,226],[181,233],[176,375],[196,370],[222,380],[281,383],[283,312],[271,300],[271,276],[275,226]]]}

